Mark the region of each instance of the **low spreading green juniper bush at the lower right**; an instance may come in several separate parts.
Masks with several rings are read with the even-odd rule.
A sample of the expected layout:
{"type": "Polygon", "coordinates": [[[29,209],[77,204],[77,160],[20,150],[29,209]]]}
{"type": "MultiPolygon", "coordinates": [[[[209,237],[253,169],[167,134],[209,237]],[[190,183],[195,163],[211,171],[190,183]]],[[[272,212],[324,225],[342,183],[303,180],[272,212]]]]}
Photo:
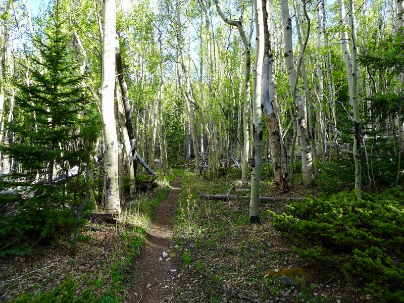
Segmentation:
{"type": "Polygon", "coordinates": [[[380,302],[404,301],[404,191],[306,198],[274,215],[296,252],[353,278],[380,302]],[[359,280],[359,279],[358,279],[359,280]]]}

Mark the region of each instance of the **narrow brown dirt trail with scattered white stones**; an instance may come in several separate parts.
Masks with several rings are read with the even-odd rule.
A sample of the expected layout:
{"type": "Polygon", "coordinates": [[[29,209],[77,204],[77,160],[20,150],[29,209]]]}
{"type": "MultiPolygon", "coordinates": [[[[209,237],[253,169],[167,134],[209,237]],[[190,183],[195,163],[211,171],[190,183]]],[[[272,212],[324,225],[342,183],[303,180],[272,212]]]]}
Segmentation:
{"type": "Polygon", "coordinates": [[[177,259],[169,254],[172,236],[174,205],[180,191],[180,177],[170,186],[170,192],[151,219],[148,239],[143,245],[132,271],[133,282],[129,286],[131,303],[174,302],[175,288],[179,279],[177,259]],[[160,261],[162,258],[162,261],[160,261]],[[167,261],[168,260],[168,261],[167,261]]]}

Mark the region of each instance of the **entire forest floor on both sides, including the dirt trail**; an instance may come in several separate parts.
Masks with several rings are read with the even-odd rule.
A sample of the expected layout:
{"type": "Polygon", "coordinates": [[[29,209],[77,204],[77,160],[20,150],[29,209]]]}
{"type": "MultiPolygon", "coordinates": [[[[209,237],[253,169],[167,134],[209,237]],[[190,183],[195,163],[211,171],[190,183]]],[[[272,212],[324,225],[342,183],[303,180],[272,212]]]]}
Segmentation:
{"type": "MultiPolygon", "coordinates": [[[[333,269],[300,259],[273,228],[271,212],[282,213],[286,199],[260,203],[261,224],[250,225],[248,200],[198,196],[248,195],[249,187],[237,182],[239,172],[216,180],[173,173],[179,177],[161,178],[157,189],[128,203],[117,224],[83,227],[75,254],[67,239],[55,239],[45,249],[0,262],[0,301],[370,302],[333,269]]],[[[261,195],[319,194],[296,182],[279,195],[268,180],[261,182],[261,195]]]]}

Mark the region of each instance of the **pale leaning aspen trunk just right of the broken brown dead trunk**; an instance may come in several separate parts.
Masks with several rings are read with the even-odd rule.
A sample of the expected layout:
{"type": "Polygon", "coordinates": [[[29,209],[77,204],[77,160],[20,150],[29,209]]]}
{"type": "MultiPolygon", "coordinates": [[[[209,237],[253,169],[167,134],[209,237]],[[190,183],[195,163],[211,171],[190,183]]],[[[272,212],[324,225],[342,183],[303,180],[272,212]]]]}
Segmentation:
{"type": "MultiPolygon", "coordinates": [[[[297,112],[297,136],[300,143],[301,154],[301,171],[303,175],[303,182],[305,185],[311,185],[313,183],[313,158],[312,148],[309,142],[309,134],[306,122],[306,102],[300,98],[300,92],[297,87],[297,71],[293,62],[293,44],[292,44],[292,21],[289,15],[289,7],[287,0],[281,1],[282,10],[282,23],[284,27],[284,42],[285,42],[285,64],[289,76],[289,87],[292,95],[292,100],[297,112]]],[[[308,30],[310,27],[308,26],[308,30]]],[[[308,32],[309,34],[309,32],[308,32]]],[[[308,38],[308,35],[306,39],[308,38]]],[[[306,44],[306,43],[305,43],[306,44]]],[[[298,69],[301,64],[302,56],[300,54],[298,69]]]]}

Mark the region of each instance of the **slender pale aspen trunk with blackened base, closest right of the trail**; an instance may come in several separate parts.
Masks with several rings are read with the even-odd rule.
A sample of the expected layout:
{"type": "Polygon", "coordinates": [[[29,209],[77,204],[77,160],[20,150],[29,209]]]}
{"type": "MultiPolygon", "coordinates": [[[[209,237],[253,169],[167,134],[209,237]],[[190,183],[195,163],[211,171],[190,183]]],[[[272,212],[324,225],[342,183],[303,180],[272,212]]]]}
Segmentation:
{"type": "Polygon", "coordinates": [[[252,171],[251,171],[251,197],[249,202],[249,222],[251,224],[260,223],[258,215],[260,201],[260,181],[261,181],[261,162],[262,162],[262,110],[261,110],[261,94],[262,94],[262,71],[264,60],[264,19],[263,5],[261,0],[254,0],[255,7],[255,24],[256,24],[256,61],[255,61],[255,77],[252,98],[252,135],[254,137],[254,147],[252,148],[252,171]]]}

